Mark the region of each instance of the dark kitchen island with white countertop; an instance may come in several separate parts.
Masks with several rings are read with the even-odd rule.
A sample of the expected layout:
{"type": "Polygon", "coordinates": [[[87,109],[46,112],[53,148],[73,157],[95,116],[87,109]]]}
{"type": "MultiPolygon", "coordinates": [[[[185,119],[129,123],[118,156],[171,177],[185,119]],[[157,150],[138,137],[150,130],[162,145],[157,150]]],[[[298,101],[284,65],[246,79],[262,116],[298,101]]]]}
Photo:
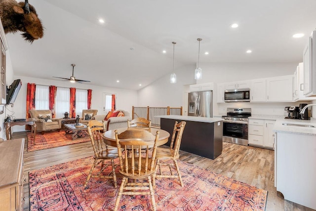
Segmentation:
{"type": "Polygon", "coordinates": [[[160,128],[170,133],[170,146],[174,123],[185,121],[180,150],[205,158],[215,159],[223,150],[223,120],[221,118],[166,115],[160,118],[160,128]]]}

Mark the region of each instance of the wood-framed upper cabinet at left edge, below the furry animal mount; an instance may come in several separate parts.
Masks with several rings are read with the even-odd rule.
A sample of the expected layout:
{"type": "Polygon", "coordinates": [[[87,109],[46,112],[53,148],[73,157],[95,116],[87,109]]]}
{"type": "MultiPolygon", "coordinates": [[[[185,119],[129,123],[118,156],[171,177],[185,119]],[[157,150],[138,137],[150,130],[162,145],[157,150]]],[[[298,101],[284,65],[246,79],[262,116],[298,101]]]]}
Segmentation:
{"type": "Polygon", "coordinates": [[[8,49],[8,44],[5,39],[5,34],[0,21],[0,45],[1,45],[1,76],[0,76],[0,104],[6,104],[6,84],[5,84],[5,60],[6,60],[6,50],[8,49]]]}

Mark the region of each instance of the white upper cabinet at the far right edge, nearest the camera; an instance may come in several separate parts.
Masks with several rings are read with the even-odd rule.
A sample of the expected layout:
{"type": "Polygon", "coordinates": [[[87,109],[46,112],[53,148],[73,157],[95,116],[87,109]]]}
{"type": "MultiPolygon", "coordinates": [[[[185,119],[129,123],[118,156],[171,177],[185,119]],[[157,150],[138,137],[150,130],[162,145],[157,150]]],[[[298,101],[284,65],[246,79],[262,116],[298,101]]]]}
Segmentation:
{"type": "Polygon", "coordinates": [[[316,31],[312,32],[303,51],[304,91],[306,97],[316,96],[316,31]]]}

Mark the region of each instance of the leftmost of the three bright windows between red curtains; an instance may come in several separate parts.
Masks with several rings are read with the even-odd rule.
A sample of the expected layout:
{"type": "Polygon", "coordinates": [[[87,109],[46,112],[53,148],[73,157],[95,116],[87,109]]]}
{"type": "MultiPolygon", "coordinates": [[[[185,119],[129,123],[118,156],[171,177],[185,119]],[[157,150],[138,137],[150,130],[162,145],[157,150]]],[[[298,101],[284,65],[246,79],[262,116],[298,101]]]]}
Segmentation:
{"type": "Polygon", "coordinates": [[[49,86],[36,85],[35,108],[37,110],[49,109],[49,86]]]}

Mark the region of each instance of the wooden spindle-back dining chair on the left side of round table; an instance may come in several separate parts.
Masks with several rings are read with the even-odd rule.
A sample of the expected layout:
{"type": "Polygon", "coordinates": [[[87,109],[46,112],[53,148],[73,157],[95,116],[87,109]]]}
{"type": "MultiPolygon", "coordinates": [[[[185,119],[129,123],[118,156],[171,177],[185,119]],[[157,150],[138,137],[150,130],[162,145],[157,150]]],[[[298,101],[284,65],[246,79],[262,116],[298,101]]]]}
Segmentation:
{"type": "Polygon", "coordinates": [[[97,120],[91,120],[87,124],[87,130],[90,136],[91,144],[93,147],[93,159],[94,163],[90,169],[89,174],[84,183],[84,187],[87,186],[90,177],[98,178],[112,178],[114,181],[114,187],[117,187],[117,176],[115,173],[114,159],[118,158],[117,148],[109,148],[108,145],[103,143],[102,133],[104,131],[105,124],[97,120]],[[110,160],[111,164],[105,164],[105,160],[110,160]],[[98,163],[99,162],[99,163],[98,163]],[[101,163],[101,169],[96,174],[92,174],[93,169],[101,163]],[[112,172],[110,175],[102,174],[102,171],[108,166],[112,166],[112,172]]]}

